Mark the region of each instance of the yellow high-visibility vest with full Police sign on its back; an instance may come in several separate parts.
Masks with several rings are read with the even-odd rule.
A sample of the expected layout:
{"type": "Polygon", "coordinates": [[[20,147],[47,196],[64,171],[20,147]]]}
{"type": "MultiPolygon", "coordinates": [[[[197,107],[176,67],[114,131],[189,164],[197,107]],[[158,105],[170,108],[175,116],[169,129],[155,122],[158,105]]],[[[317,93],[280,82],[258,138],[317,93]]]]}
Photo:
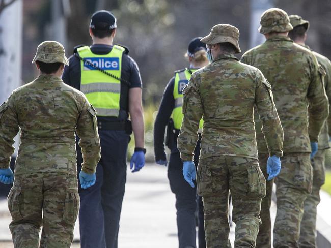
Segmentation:
{"type": "Polygon", "coordinates": [[[85,61],[80,61],[80,91],[97,111],[97,116],[118,117],[121,96],[122,55],[125,49],[115,45],[108,54],[94,54],[89,46],[80,47],[77,52],[85,61]],[[111,73],[110,77],[94,66],[111,73]]]}

